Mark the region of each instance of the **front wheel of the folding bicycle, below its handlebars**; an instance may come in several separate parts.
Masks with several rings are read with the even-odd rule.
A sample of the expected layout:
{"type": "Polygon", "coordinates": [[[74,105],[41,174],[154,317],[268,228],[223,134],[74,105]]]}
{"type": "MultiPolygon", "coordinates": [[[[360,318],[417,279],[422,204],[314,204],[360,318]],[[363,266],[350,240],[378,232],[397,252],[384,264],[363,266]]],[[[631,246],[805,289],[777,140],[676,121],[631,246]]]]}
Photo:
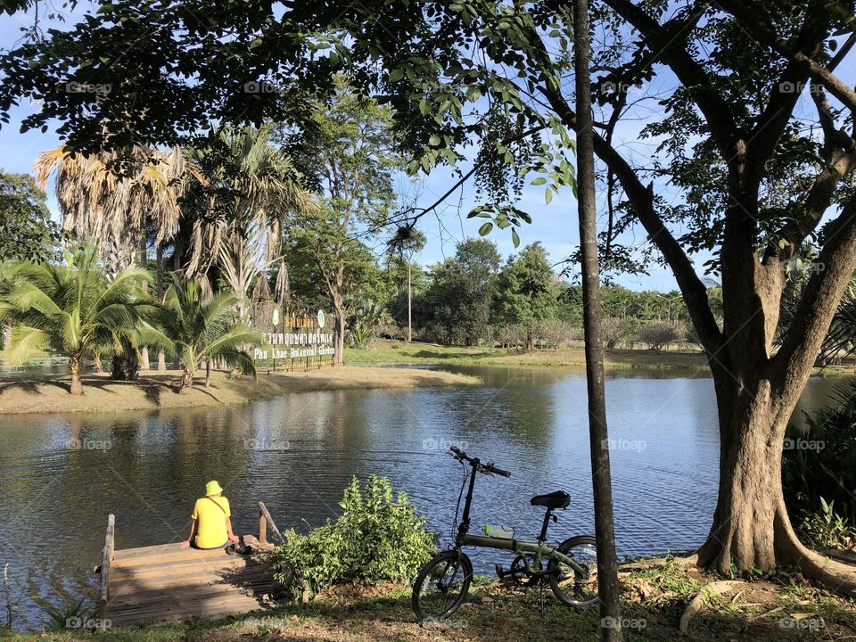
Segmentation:
{"type": "Polygon", "coordinates": [[[425,564],[413,584],[411,604],[419,621],[440,621],[455,613],[473,580],[473,563],[457,550],[443,551],[425,564]]]}

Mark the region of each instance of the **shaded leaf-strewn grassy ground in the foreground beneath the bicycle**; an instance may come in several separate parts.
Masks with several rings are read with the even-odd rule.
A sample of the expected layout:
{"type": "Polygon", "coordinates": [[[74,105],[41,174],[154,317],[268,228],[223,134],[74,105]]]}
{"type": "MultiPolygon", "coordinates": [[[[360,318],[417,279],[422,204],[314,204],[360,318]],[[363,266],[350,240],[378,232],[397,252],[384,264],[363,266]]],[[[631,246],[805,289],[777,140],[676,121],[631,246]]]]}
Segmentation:
{"type": "MultiPolygon", "coordinates": [[[[420,626],[410,611],[409,589],[388,585],[341,587],[309,605],[284,605],[231,621],[186,621],[147,628],[100,633],[60,632],[40,636],[61,640],[104,642],[239,642],[293,640],[321,642],[394,642],[398,640],[475,640],[478,642],[596,642],[597,607],[568,609],[545,594],[539,613],[535,590],[498,582],[478,582],[467,604],[450,621],[420,626]]],[[[622,573],[622,618],[625,639],[712,642],[848,639],[856,636],[856,605],[832,597],[799,576],[768,580],[722,582],[683,569],[674,562],[622,573]],[[700,604],[687,621],[686,637],[679,627],[687,606],[700,604]]],[[[12,642],[32,639],[11,635],[12,642]]]]}

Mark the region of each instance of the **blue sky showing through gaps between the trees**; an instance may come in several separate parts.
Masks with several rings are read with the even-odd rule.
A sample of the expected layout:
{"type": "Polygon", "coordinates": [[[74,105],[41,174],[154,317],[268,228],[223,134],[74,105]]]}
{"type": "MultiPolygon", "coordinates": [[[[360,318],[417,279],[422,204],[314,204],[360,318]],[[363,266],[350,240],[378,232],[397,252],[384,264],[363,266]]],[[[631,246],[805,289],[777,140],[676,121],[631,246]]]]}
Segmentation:
{"type": "MultiPolygon", "coordinates": [[[[83,12],[78,6],[75,12],[78,15],[83,12]]],[[[27,16],[0,16],[0,48],[12,45],[20,37],[22,26],[29,24],[31,18],[27,16]]],[[[68,21],[74,21],[68,16],[68,21]]],[[[842,66],[844,68],[844,65],[842,66]]],[[[845,74],[849,76],[850,74],[845,74]]],[[[649,94],[657,94],[657,87],[645,87],[649,94]]],[[[19,132],[21,119],[30,110],[37,109],[37,105],[30,104],[25,99],[21,105],[16,107],[11,114],[11,122],[0,128],[0,167],[11,172],[32,172],[33,162],[40,152],[53,148],[61,143],[53,130],[49,129],[45,134],[39,131],[29,131],[24,134],[19,132]]],[[[621,152],[630,155],[647,155],[651,150],[650,142],[638,141],[638,129],[645,123],[645,119],[637,119],[624,128],[619,128],[615,133],[614,143],[621,152]]],[[[463,163],[463,169],[468,169],[463,163]]],[[[456,177],[449,169],[440,168],[432,172],[431,176],[423,177],[416,182],[411,182],[406,177],[399,177],[399,191],[407,193],[409,198],[417,197],[416,204],[425,206],[434,202],[441,193],[446,192],[454,184],[456,177]]],[[[602,194],[598,194],[602,197],[602,194]]],[[[58,208],[53,194],[48,192],[48,204],[54,215],[58,208]]],[[[455,252],[455,245],[466,236],[478,236],[478,228],[483,219],[467,219],[466,212],[474,205],[476,194],[472,182],[467,183],[454,193],[445,205],[440,207],[435,214],[425,216],[420,222],[420,228],[424,231],[428,244],[417,260],[423,264],[431,264],[450,256],[455,252]]],[[[523,245],[541,242],[549,253],[550,259],[559,262],[565,259],[575,250],[579,243],[577,231],[576,202],[570,188],[563,188],[553,201],[547,205],[544,202],[544,188],[527,186],[523,190],[518,207],[531,214],[532,224],[525,225],[519,230],[521,247],[523,245]]],[[[600,208],[602,215],[603,208],[600,208]]],[[[490,240],[497,243],[498,250],[503,257],[514,252],[509,230],[497,230],[494,228],[489,235],[490,240]]],[[[639,243],[644,240],[644,233],[638,232],[635,239],[621,239],[621,243],[639,243]]],[[[700,265],[704,261],[696,261],[700,265]]],[[[668,291],[676,289],[676,284],[671,272],[658,266],[652,266],[648,275],[618,276],[616,282],[630,287],[634,290],[655,289],[668,291]]]]}

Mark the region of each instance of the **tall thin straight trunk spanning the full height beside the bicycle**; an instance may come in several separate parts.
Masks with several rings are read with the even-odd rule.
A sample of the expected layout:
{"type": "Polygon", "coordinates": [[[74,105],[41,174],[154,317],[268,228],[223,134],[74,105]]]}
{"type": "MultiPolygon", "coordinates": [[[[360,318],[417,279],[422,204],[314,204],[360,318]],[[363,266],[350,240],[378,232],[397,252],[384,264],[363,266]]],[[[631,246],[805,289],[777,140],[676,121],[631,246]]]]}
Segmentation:
{"type": "Polygon", "coordinates": [[[618,560],[615,555],[609,434],[606,431],[604,343],[601,336],[603,309],[600,303],[600,268],[597,261],[595,154],[591,131],[591,78],[588,70],[588,0],[574,0],[573,36],[577,94],[577,204],[580,218],[582,317],[588,382],[588,433],[595,498],[597,590],[600,595],[601,639],[604,642],[618,642],[621,640],[621,607],[618,601],[618,560]]]}

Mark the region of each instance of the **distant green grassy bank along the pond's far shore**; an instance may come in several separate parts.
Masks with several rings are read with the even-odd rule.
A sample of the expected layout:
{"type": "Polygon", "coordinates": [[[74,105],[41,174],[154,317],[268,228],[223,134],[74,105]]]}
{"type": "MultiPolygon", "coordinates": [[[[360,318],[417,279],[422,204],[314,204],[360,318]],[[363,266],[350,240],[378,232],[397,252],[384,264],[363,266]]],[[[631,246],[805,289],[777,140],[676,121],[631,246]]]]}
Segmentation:
{"type": "MultiPolygon", "coordinates": [[[[440,346],[432,343],[377,341],[365,350],[347,350],[352,364],[455,364],[471,366],[586,366],[582,343],[562,350],[518,352],[503,348],[440,346]]],[[[707,369],[704,354],[693,350],[611,350],[606,366],[613,368],[707,369]]]]}

